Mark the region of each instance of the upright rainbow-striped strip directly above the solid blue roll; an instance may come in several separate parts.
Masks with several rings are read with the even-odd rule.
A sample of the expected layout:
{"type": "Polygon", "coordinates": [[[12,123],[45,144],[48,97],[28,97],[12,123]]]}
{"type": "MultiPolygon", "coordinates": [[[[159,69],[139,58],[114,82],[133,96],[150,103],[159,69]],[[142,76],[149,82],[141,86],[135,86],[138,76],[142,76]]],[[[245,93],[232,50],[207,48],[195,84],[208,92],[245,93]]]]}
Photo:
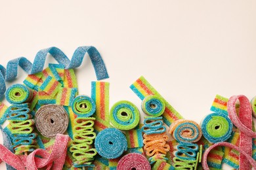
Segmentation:
{"type": "Polygon", "coordinates": [[[95,101],[95,131],[98,133],[110,127],[109,82],[91,82],[91,98],[95,101]]]}

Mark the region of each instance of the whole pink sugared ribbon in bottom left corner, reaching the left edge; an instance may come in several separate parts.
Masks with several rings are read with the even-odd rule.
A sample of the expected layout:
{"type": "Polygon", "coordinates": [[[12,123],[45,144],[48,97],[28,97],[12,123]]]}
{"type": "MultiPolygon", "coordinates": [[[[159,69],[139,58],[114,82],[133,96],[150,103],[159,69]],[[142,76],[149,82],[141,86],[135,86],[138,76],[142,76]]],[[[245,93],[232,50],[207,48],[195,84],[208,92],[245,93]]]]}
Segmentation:
{"type": "Polygon", "coordinates": [[[27,170],[36,170],[41,167],[47,167],[47,169],[53,168],[56,170],[62,169],[66,158],[68,140],[68,135],[56,135],[56,141],[51,154],[43,149],[34,150],[26,158],[26,165],[24,165],[22,161],[24,158],[19,158],[8,150],[8,148],[0,144],[0,163],[1,161],[5,161],[18,170],[25,170],[25,167],[27,167],[27,170]],[[41,156],[41,158],[35,157],[35,155],[41,156]]]}

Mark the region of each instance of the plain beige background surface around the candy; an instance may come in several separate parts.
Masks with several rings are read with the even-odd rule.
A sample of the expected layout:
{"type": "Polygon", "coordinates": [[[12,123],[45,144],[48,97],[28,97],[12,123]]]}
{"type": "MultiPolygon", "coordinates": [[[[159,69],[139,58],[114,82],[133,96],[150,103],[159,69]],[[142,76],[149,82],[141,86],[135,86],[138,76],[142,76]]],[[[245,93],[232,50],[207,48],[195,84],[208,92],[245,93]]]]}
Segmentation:
{"type": "MultiPolygon", "coordinates": [[[[129,89],[140,75],[198,123],[217,93],[256,95],[256,1],[0,1],[0,23],[2,65],[33,61],[50,46],[70,58],[78,46],[95,46],[109,71],[110,105],[127,99],[140,107],[129,89]]],[[[90,95],[96,78],[85,60],[77,78],[90,95]]],[[[25,77],[20,71],[10,84],[25,77]]]]}

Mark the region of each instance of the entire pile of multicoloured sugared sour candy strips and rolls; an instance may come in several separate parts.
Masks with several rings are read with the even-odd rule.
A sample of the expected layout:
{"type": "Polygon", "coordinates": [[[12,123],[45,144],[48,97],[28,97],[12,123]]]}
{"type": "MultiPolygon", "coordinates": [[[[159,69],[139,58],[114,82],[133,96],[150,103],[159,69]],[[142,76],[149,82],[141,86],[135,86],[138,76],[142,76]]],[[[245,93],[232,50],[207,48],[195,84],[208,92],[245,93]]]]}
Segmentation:
{"type": "Polygon", "coordinates": [[[18,58],[7,69],[0,65],[0,95],[9,102],[0,105],[0,163],[7,169],[222,169],[223,163],[256,168],[256,98],[216,95],[212,113],[199,125],[141,76],[130,86],[146,115],[140,122],[144,114],[130,101],[110,108],[108,82],[91,82],[91,96],[79,94],[74,68],[86,53],[98,80],[108,78],[92,46],[77,48],[71,61],[52,47],[40,50],[33,64],[18,58]],[[48,53],[58,64],[43,69],[48,53]],[[6,90],[18,66],[28,77],[6,90]]]}

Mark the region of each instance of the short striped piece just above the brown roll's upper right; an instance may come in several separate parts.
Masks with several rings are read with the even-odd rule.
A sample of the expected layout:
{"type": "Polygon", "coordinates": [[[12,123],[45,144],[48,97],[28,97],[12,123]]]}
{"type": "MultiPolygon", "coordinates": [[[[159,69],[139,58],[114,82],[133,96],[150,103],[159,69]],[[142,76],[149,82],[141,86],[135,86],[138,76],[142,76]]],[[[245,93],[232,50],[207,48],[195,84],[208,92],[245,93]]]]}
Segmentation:
{"type": "Polygon", "coordinates": [[[77,93],[77,88],[59,88],[56,96],[56,104],[70,106],[77,93]]]}

